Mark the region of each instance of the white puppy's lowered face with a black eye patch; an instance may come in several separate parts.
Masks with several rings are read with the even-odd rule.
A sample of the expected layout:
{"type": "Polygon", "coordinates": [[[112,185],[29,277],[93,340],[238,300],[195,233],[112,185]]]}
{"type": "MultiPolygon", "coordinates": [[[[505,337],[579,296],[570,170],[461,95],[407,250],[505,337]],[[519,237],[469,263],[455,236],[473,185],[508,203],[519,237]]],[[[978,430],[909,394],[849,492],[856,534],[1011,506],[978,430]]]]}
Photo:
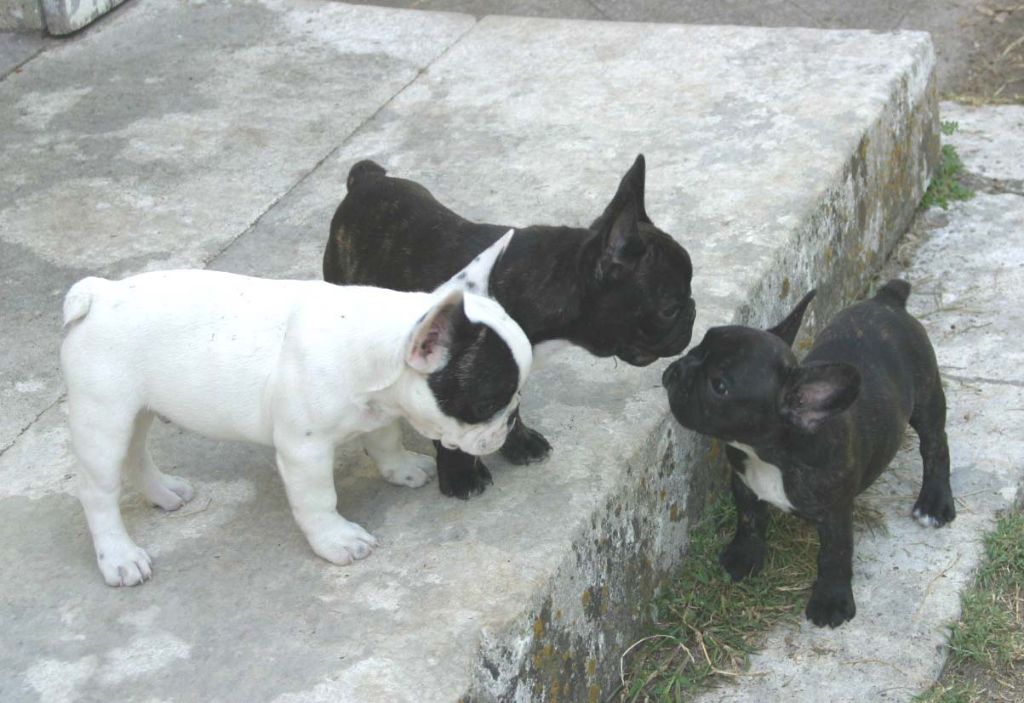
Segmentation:
{"type": "Polygon", "coordinates": [[[419,377],[410,423],[450,449],[498,451],[515,421],[531,361],[529,341],[501,306],[467,297],[465,314],[454,321],[446,363],[419,377]]]}

